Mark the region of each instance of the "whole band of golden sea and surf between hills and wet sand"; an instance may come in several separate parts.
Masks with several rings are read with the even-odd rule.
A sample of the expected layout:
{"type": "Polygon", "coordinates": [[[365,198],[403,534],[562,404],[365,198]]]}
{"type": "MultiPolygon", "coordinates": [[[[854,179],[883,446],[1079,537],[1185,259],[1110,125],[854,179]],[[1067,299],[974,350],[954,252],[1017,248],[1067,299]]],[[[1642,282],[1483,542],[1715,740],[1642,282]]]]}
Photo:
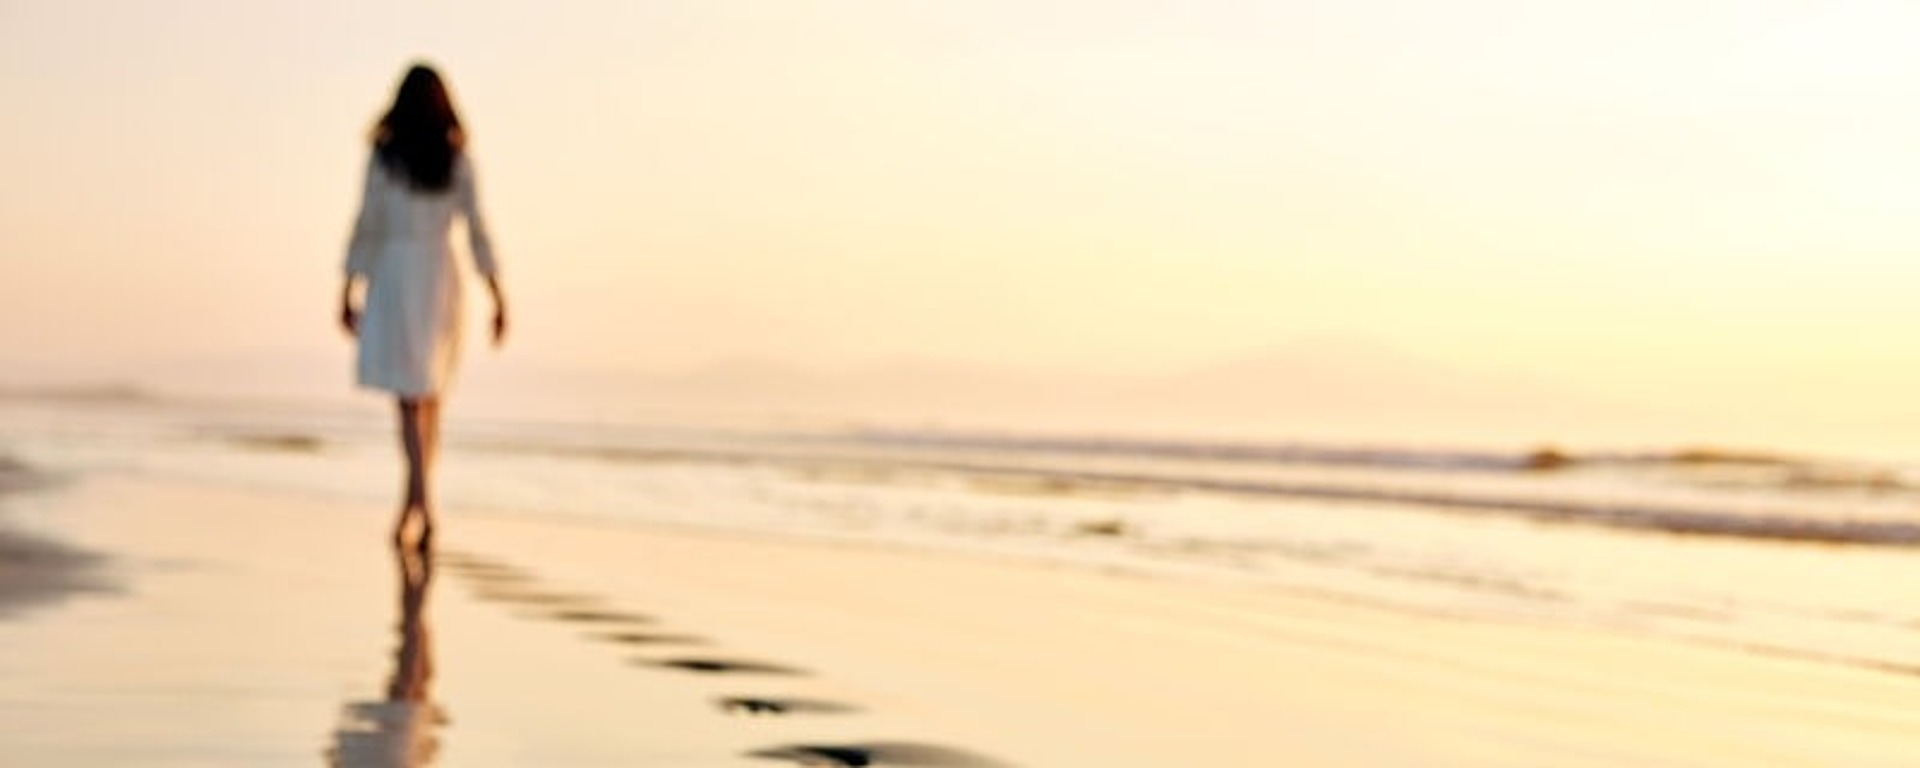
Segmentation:
{"type": "MultiPolygon", "coordinates": [[[[1899,463],[449,413],[453,530],[516,516],[831,540],[1920,674],[1920,467],[1899,463]]],[[[371,399],[15,394],[0,468],[392,507],[392,430],[371,399]]]]}

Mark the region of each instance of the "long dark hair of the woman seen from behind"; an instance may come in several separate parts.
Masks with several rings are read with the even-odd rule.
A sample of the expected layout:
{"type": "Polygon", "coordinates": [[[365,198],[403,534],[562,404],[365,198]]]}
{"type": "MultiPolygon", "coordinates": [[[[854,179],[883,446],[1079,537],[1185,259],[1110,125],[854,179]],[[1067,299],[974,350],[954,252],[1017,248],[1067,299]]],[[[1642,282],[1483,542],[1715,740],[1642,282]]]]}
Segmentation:
{"type": "Polygon", "coordinates": [[[372,150],[407,186],[442,192],[453,186],[453,157],[467,144],[453,96],[434,67],[415,63],[394,92],[394,106],[372,129],[372,150]]]}

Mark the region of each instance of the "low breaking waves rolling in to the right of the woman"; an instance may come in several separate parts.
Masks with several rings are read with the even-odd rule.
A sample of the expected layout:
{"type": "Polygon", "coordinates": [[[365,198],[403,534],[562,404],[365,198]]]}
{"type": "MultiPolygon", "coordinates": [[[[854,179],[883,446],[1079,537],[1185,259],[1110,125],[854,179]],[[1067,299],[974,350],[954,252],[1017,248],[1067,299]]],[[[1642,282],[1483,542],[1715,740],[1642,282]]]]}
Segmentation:
{"type": "Polygon", "coordinates": [[[1446,451],[914,432],[488,447],[616,463],[756,463],[833,482],[918,470],[968,476],[975,490],[1025,493],[1229,493],[1686,536],[1920,543],[1920,488],[1905,470],[1705,447],[1446,451]]]}

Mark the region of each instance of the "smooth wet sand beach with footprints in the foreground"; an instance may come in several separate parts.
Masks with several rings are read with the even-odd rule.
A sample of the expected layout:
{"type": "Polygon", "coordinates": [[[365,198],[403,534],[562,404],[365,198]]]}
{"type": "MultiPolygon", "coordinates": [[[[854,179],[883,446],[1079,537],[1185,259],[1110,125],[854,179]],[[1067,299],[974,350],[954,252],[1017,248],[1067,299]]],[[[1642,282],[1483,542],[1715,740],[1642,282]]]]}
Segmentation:
{"type": "Polygon", "coordinates": [[[0,612],[0,764],[1920,764],[1899,670],[672,526],[453,513],[419,563],[386,509],[165,478],[8,501],[111,589],[0,612]]]}

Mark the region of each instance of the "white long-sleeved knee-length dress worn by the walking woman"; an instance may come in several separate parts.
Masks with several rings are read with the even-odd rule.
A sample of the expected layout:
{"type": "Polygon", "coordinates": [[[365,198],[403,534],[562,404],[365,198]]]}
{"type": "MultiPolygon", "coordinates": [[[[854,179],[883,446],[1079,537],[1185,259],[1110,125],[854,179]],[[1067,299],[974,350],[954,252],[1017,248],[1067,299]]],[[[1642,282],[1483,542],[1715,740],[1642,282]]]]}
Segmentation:
{"type": "Polygon", "coordinates": [[[359,386],[401,397],[445,390],[461,348],[461,271],[449,242],[455,215],[467,221],[474,267],[493,276],[493,246],[465,154],[453,157],[453,184],[444,192],[413,190],[378,156],[367,161],[367,192],[346,263],[348,276],[367,284],[359,386]]]}

